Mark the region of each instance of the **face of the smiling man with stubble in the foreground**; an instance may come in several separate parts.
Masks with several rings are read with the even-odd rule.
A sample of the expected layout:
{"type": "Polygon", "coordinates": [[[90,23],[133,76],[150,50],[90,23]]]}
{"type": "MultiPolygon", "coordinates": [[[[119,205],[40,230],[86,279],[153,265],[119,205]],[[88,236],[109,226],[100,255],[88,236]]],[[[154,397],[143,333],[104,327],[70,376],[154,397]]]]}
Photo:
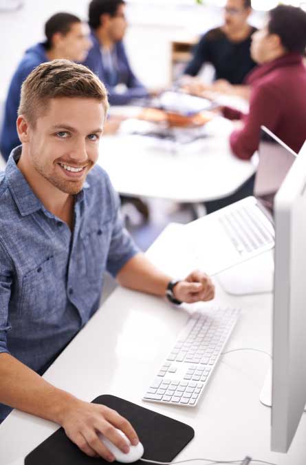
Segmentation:
{"type": "Polygon", "coordinates": [[[61,192],[77,194],[98,159],[104,121],[95,99],[51,99],[28,127],[28,163],[61,192]]]}

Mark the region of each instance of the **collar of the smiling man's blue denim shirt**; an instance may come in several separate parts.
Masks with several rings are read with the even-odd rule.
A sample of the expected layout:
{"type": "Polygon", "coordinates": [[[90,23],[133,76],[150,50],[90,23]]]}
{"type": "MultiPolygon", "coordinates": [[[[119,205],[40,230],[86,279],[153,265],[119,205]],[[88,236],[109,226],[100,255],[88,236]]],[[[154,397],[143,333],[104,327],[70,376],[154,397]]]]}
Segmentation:
{"type": "MultiPolygon", "coordinates": [[[[27,216],[39,209],[43,209],[43,211],[45,211],[45,208],[43,207],[41,200],[39,200],[32,191],[28,181],[25,179],[20,169],[17,167],[17,163],[21,156],[21,148],[22,145],[19,145],[19,147],[12,150],[10,157],[8,158],[8,163],[6,164],[5,176],[10,187],[10,192],[12,193],[12,197],[16,202],[21,216],[27,216]]],[[[76,195],[76,203],[83,201],[85,195],[84,189],[88,189],[89,187],[89,183],[85,181],[83,189],[76,195]]]]}

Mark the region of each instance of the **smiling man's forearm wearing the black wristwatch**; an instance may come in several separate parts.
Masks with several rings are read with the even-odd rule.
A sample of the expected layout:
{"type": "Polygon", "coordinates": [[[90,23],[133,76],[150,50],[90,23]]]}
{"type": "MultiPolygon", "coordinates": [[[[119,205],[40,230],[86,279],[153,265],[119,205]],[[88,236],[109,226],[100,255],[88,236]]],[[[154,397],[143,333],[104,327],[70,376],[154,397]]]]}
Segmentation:
{"type": "Polygon", "coordinates": [[[120,285],[154,294],[164,296],[171,276],[157,269],[144,254],[137,254],[120,269],[117,280],[120,285]]]}

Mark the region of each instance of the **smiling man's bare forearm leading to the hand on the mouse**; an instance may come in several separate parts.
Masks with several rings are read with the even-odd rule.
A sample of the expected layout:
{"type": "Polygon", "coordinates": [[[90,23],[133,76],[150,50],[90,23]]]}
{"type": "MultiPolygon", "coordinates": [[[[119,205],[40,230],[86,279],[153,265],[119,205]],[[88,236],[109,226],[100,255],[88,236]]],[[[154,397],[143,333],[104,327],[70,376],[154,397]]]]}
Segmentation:
{"type": "Polygon", "coordinates": [[[12,355],[0,353],[0,402],[61,424],[65,409],[79,401],[12,355]]]}

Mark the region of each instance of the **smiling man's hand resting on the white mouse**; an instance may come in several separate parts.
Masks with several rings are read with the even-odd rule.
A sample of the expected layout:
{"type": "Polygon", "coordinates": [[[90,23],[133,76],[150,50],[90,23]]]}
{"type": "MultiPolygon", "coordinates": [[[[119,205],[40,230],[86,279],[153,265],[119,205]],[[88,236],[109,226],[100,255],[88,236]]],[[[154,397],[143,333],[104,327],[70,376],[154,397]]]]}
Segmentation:
{"type": "Polygon", "coordinates": [[[123,431],[133,446],[139,442],[133,426],[119,413],[107,406],[81,400],[76,400],[65,410],[61,426],[81,451],[89,457],[102,457],[107,462],[113,462],[115,457],[100,441],[98,433],[105,435],[123,453],[129,452],[129,446],[115,428],[123,431]]]}

